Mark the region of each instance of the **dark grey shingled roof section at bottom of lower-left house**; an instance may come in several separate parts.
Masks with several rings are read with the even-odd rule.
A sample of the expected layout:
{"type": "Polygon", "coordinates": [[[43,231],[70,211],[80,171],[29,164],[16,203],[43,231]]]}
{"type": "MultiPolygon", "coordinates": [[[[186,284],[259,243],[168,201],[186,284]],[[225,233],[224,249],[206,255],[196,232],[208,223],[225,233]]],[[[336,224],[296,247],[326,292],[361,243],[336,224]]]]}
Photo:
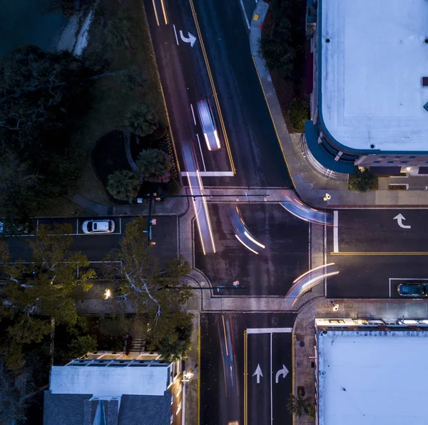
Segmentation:
{"type": "MultiPolygon", "coordinates": [[[[64,368],[66,369],[66,368],[64,368]]],[[[44,393],[44,425],[93,425],[100,400],[91,394],[44,393]]],[[[103,401],[106,425],[170,425],[171,394],[103,401]]]]}

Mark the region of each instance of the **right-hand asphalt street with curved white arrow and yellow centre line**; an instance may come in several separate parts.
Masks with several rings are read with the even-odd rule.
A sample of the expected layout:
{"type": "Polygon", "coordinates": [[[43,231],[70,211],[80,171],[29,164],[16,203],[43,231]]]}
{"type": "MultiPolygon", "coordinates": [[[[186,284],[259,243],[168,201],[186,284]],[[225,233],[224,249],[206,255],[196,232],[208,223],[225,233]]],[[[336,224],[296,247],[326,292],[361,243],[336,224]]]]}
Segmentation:
{"type": "Polygon", "coordinates": [[[327,228],[327,262],[340,274],[327,280],[327,296],[399,298],[400,282],[426,281],[427,255],[414,253],[428,251],[427,219],[428,210],[420,209],[338,211],[337,231],[327,228]],[[409,229],[394,219],[399,214],[409,229]]]}

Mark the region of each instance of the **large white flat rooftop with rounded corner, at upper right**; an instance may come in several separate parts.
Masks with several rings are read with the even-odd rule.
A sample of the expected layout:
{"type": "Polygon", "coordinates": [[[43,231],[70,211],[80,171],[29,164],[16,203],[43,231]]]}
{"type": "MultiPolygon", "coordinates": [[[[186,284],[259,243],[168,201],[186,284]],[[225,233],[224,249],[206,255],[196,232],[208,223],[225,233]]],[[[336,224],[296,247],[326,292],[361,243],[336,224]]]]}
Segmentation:
{"type": "Polygon", "coordinates": [[[352,149],[428,151],[428,1],[322,0],[320,7],[326,129],[352,149]]]}

